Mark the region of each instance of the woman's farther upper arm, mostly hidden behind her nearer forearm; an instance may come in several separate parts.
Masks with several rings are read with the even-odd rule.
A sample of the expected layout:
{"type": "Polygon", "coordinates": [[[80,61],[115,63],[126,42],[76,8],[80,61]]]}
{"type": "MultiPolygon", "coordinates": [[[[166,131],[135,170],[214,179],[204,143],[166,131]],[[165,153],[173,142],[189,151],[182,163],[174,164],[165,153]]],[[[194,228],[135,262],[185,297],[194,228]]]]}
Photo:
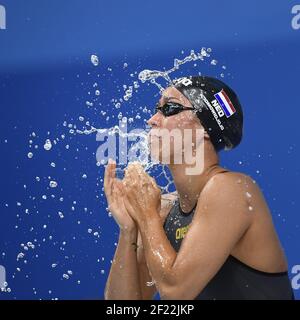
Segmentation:
{"type": "MultiPolygon", "coordinates": [[[[160,217],[162,219],[162,224],[169,212],[171,207],[172,201],[176,193],[170,193],[166,195],[162,195],[161,199],[161,210],[160,210],[160,217]]],[[[140,280],[140,288],[142,291],[143,300],[153,299],[154,295],[157,292],[157,288],[155,283],[152,281],[152,277],[149,273],[149,269],[147,266],[147,262],[145,259],[144,248],[142,243],[142,237],[140,231],[138,231],[138,238],[137,238],[137,261],[138,261],[138,270],[139,270],[139,280],[140,280]]]]}

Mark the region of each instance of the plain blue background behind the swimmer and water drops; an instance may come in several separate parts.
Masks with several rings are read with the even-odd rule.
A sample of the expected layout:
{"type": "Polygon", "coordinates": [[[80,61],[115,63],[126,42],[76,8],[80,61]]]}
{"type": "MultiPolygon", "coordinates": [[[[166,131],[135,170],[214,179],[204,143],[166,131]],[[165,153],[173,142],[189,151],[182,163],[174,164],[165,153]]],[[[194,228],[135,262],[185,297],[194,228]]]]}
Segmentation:
{"type": "Polygon", "coordinates": [[[218,65],[198,63],[174,75],[220,77],[226,65],[224,81],[243,104],[245,134],[236,150],[221,154],[221,163],[262,188],[294,277],[291,269],[300,265],[300,30],[291,26],[291,9],[297,2],[0,0],[7,14],[7,29],[0,30],[0,265],[11,289],[0,299],[103,298],[118,228],[105,209],[103,166],[95,165],[99,142],[69,133],[68,124],[80,128],[84,116],[108,127],[118,124],[119,111],[138,109],[142,119],[135,125],[142,126],[149,114],[139,108],[155,103],[156,88],[141,86],[117,111],[112,97],[136,80],[131,73],[170,68],[175,57],[201,47],[213,49],[218,65]],[[98,67],[91,54],[99,56],[98,67]],[[59,139],[50,151],[43,149],[47,138],[59,139]],[[49,177],[57,188],[49,188],[49,177]],[[22,244],[29,241],[35,248],[26,251],[22,244]],[[25,256],[17,260],[20,252],[25,256]]]}

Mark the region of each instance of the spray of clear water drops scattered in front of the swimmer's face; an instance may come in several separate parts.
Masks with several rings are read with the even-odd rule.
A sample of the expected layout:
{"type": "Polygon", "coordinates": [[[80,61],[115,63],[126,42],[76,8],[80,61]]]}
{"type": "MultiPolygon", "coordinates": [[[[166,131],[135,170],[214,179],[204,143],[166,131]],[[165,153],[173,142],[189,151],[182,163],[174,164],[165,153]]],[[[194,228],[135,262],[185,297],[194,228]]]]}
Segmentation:
{"type": "MultiPolygon", "coordinates": [[[[100,83],[98,82],[99,74],[97,75],[97,79],[94,79],[92,88],[88,91],[88,99],[84,103],[84,110],[87,112],[94,112],[93,117],[100,116],[102,123],[106,123],[112,118],[114,118],[117,112],[119,112],[117,118],[122,121],[128,121],[128,123],[134,124],[135,121],[140,121],[142,118],[149,117],[151,115],[151,111],[148,110],[147,107],[140,107],[141,112],[137,112],[134,117],[129,117],[128,119],[124,117],[124,114],[129,111],[126,109],[126,105],[130,102],[130,99],[133,98],[134,94],[138,92],[138,90],[141,88],[143,84],[146,82],[149,82],[153,85],[155,85],[159,93],[161,93],[164,90],[164,87],[172,85],[172,74],[179,70],[179,68],[187,63],[195,62],[197,60],[204,61],[205,59],[210,58],[211,56],[211,49],[205,49],[202,48],[199,52],[196,52],[194,50],[190,51],[190,54],[185,56],[182,59],[174,59],[173,67],[166,70],[166,71],[160,71],[160,70],[142,70],[141,72],[133,72],[130,74],[130,77],[133,78],[133,81],[131,83],[123,84],[123,92],[121,92],[121,96],[113,97],[110,99],[112,109],[110,112],[103,110],[101,107],[101,99],[104,90],[101,88],[100,83]],[[166,85],[162,85],[159,83],[159,80],[162,79],[166,82],[166,85]],[[125,106],[124,106],[125,105],[125,106]],[[100,106],[101,110],[100,113],[97,110],[97,107],[100,106]],[[122,110],[122,112],[120,112],[122,110]]],[[[97,55],[93,54],[90,57],[90,61],[93,65],[93,70],[97,70],[97,68],[102,68],[103,61],[100,59],[97,55]]],[[[211,65],[215,66],[217,64],[216,60],[211,60],[211,65]]],[[[224,70],[226,69],[225,66],[222,67],[224,70]]],[[[122,70],[124,72],[128,70],[128,64],[124,63],[122,66],[122,70]]],[[[105,71],[108,74],[112,73],[112,68],[108,67],[105,71]]],[[[89,75],[92,73],[89,72],[89,75]]],[[[222,76],[222,75],[221,75],[222,76]]],[[[78,75],[79,78],[79,75],[78,75]]],[[[130,82],[130,81],[128,81],[130,82]]],[[[120,90],[122,91],[122,90],[120,90]]],[[[83,113],[85,112],[83,110],[83,113]]],[[[47,242],[53,242],[55,245],[57,245],[57,248],[59,248],[59,251],[64,252],[66,245],[68,244],[67,241],[62,241],[58,243],[58,241],[55,242],[55,234],[50,233],[50,229],[48,228],[48,221],[49,215],[45,214],[43,212],[43,209],[40,209],[40,205],[44,204],[47,206],[48,202],[50,201],[54,202],[56,201],[56,212],[54,212],[54,215],[52,218],[57,218],[59,221],[64,221],[67,217],[70,217],[69,214],[73,215],[77,212],[77,208],[79,207],[79,201],[75,197],[75,199],[71,199],[70,201],[70,212],[64,211],[61,209],[60,205],[66,203],[69,198],[69,194],[65,194],[64,190],[62,188],[62,185],[64,184],[63,181],[59,179],[59,177],[55,177],[55,172],[58,169],[63,169],[64,171],[68,172],[66,167],[62,168],[61,162],[59,162],[59,159],[62,159],[64,155],[67,155],[67,152],[76,152],[76,156],[74,158],[80,158],[80,152],[77,148],[74,142],[76,142],[76,135],[77,136],[84,136],[84,137],[95,137],[97,134],[103,134],[107,133],[109,135],[118,135],[123,138],[127,138],[128,140],[137,140],[133,145],[131,145],[131,150],[134,152],[135,149],[139,150],[138,155],[138,161],[143,165],[144,169],[152,176],[156,178],[156,180],[165,180],[165,183],[161,185],[162,192],[170,192],[170,189],[173,187],[173,180],[170,176],[170,174],[167,172],[167,167],[161,166],[161,171],[159,171],[158,174],[156,174],[157,163],[153,162],[151,158],[149,157],[149,146],[148,146],[148,139],[147,139],[147,130],[145,130],[142,133],[135,133],[135,132],[126,132],[123,130],[121,125],[114,125],[109,128],[97,128],[97,126],[92,125],[90,121],[86,121],[86,118],[89,118],[88,116],[80,115],[77,117],[79,120],[78,123],[74,123],[74,119],[70,119],[69,121],[64,121],[62,124],[62,131],[56,135],[56,137],[51,137],[50,132],[47,132],[46,137],[43,138],[43,134],[31,132],[29,135],[29,143],[28,148],[25,157],[27,161],[38,161],[39,154],[41,152],[46,152],[49,157],[49,174],[47,176],[43,176],[43,173],[35,174],[33,177],[33,181],[28,181],[24,183],[24,197],[28,197],[28,199],[23,199],[23,201],[19,200],[16,201],[17,203],[17,224],[15,228],[19,228],[21,225],[21,221],[23,221],[25,218],[30,219],[30,216],[35,214],[44,214],[45,215],[45,223],[41,226],[35,226],[32,225],[29,228],[29,233],[26,234],[26,238],[32,237],[30,241],[26,240],[24,243],[20,244],[20,250],[16,253],[16,263],[17,268],[16,272],[13,274],[13,277],[15,277],[17,274],[21,274],[23,271],[23,265],[25,267],[28,262],[30,262],[31,259],[38,259],[38,254],[35,253],[38,249],[41,249],[42,246],[47,242]],[[75,140],[75,141],[74,141],[75,140]],[[62,146],[63,148],[58,148],[59,146],[62,146]],[[54,161],[54,158],[50,159],[50,157],[55,157],[57,154],[59,156],[57,157],[57,161],[54,161]],[[58,179],[57,179],[58,178],[58,179]],[[163,178],[163,179],[161,179],[163,178]],[[37,194],[30,194],[28,193],[30,191],[31,184],[36,186],[35,192],[37,194]],[[38,190],[38,191],[37,191],[38,190]],[[28,194],[30,194],[28,196],[28,194]],[[28,201],[27,201],[28,200],[28,201]],[[26,203],[26,204],[25,204],[26,203]],[[26,205],[26,207],[25,207],[26,205]],[[28,207],[27,207],[28,205],[28,207]],[[49,230],[49,231],[48,231],[49,230]],[[46,235],[45,233],[48,232],[46,235]],[[38,236],[36,236],[38,235],[38,236]]],[[[143,128],[144,129],[144,128],[143,128]]],[[[8,143],[7,140],[5,140],[5,143],[8,143]]],[[[104,165],[105,163],[97,163],[98,166],[104,165]]],[[[32,165],[31,163],[29,165],[32,165]]],[[[48,167],[47,167],[48,168],[48,167]]],[[[123,168],[119,166],[120,171],[123,171],[123,168]]],[[[80,173],[80,179],[83,179],[85,181],[88,181],[89,176],[85,172],[80,173]]],[[[103,187],[103,178],[100,178],[100,186],[103,187]],[[102,185],[101,185],[102,184],[102,185]]],[[[90,186],[89,186],[90,188],[90,186]]],[[[97,188],[98,189],[98,188],[97,188]]],[[[103,192],[103,188],[102,188],[103,192]]],[[[101,197],[104,197],[104,194],[101,193],[100,195],[96,195],[97,199],[101,199],[101,197]]],[[[8,208],[9,204],[6,203],[5,207],[8,208]]],[[[82,208],[82,212],[84,214],[92,214],[91,210],[88,208],[88,204],[82,208]]],[[[109,214],[109,216],[111,216],[109,214]]],[[[72,219],[75,219],[75,216],[72,216],[72,219]]],[[[80,219],[78,218],[77,224],[80,225],[80,219]]],[[[95,243],[97,243],[99,234],[100,234],[100,228],[99,226],[92,226],[86,229],[87,235],[89,237],[93,237],[95,240],[95,243]],[[97,230],[95,230],[97,229],[97,230]]],[[[24,230],[25,232],[25,230],[24,230]]],[[[76,236],[73,235],[73,238],[70,241],[76,241],[76,236]]],[[[116,244],[115,244],[116,245],[116,244]]],[[[2,255],[5,254],[4,252],[2,255]]],[[[65,255],[68,257],[68,255],[65,255]]],[[[60,270],[60,280],[62,281],[72,281],[75,280],[75,275],[73,274],[72,270],[70,269],[70,266],[66,265],[66,262],[64,259],[61,259],[61,261],[58,261],[58,258],[53,259],[52,263],[50,263],[49,267],[51,270],[60,270]]],[[[100,260],[100,259],[99,259],[100,260]]],[[[101,258],[101,261],[104,260],[104,257],[101,258]]],[[[68,259],[66,258],[66,261],[68,259]]],[[[104,270],[102,269],[101,274],[104,274],[104,270]],[[103,272],[102,272],[103,271],[103,272]]],[[[76,282],[78,285],[80,285],[80,280],[76,279],[76,282]]],[[[34,294],[37,294],[37,289],[33,288],[34,294]]],[[[49,295],[52,293],[51,290],[49,290],[49,295]]]]}

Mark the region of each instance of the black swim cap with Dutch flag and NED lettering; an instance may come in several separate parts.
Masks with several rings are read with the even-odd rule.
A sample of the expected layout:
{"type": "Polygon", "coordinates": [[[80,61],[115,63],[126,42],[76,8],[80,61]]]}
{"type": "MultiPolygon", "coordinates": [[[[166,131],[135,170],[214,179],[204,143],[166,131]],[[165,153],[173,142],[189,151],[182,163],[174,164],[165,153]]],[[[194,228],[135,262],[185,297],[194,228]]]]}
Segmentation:
{"type": "Polygon", "coordinates": [[[173,80],[173,84],[197,108],[202,126],[216,151],[236,147],[243,135],[243,111],[237,95],[224,82],[206,76],[173,80]]]}

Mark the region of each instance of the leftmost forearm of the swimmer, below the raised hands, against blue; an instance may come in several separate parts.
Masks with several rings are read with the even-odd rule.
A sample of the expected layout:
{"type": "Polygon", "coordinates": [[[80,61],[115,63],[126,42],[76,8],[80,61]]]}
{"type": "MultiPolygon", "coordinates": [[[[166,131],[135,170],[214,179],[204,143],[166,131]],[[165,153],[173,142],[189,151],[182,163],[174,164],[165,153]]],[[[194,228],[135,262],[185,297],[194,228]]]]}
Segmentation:
{"type": "Polygon", "coordinates": [[[136,248],[137,231],[120,231],[105,287],[105,300],[141,300],[136,248]]]}

